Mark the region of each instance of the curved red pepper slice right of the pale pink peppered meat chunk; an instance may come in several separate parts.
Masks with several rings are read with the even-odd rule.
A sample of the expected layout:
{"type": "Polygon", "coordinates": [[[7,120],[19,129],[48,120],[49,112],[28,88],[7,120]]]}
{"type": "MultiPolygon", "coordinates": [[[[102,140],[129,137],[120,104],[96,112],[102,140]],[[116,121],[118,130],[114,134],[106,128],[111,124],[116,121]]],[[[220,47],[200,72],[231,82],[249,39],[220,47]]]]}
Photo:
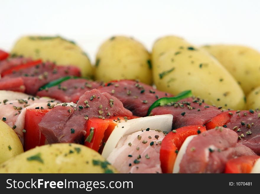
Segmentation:
{"type": "Polygon", "coordinates": [[[168,133],[162,141],[160,149],[160,161],[163,173],[172,173],[178,150],[188,136],[207,131],[202,125],[181,127],[168,133]]]}

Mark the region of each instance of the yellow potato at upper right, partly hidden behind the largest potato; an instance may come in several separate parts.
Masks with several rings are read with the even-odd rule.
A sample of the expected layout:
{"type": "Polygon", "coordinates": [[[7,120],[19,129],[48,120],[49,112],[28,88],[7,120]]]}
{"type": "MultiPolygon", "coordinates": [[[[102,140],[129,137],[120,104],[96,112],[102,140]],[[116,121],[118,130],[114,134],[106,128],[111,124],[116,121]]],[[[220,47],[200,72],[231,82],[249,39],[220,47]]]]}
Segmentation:
{"type": "Polygon", "coordinates": [[[232,74],[245,94],[260,85],[260,53],[238,45],[204,46],[232,74]]]}

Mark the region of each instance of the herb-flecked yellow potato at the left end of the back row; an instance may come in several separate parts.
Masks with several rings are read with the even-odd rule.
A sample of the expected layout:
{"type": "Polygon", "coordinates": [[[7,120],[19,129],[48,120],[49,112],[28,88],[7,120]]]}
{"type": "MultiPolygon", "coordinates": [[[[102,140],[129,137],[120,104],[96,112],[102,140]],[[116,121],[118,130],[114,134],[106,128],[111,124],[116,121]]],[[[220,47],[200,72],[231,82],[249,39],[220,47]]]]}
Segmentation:
{"type": "Polygon", "coordinates": [[[57,65],[73,65],[81,69],[82,76],[92,76],[93,68],[86,53],[73,41],[60,36],[25,36],[20,38],[11,51],[12,54],[54,61],[57,65]]]}

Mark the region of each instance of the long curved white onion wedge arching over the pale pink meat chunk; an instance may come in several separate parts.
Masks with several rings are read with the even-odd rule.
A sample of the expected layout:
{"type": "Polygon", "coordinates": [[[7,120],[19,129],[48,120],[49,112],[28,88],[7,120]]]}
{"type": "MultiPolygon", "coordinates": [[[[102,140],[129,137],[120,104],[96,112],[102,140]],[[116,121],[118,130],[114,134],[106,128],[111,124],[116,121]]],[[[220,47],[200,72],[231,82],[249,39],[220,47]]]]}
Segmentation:
{"type": "Polygon", "coordinates": [[[123,136],[131,135],[134,132],[146,130],[161,130],[170,132],[172,130],[173,115],[155,115],[149,117],[135,118],[131,120],[121,121],[114,128],[111,135],[108,138],[108,141],[105,144],[105,147],[102,152],[102,156],[106,159],[109,154],[116,148],[118,141],[123,136]]]}

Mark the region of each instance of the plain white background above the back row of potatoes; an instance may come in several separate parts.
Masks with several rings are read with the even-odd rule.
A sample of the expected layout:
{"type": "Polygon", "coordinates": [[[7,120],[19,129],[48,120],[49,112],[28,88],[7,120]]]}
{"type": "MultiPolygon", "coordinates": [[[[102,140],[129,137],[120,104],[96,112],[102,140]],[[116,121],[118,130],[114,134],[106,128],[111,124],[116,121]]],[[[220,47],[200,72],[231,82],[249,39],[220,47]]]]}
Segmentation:
{"type": "Polygon", "coordinates": [[[233,43],[260,51],[260,1],[0,0],[0,48],[21,35],[61,35],[95,58],[112,35],[128,35],[151,50],[160,36],[178,35],[201,45],[233,43]]]}

